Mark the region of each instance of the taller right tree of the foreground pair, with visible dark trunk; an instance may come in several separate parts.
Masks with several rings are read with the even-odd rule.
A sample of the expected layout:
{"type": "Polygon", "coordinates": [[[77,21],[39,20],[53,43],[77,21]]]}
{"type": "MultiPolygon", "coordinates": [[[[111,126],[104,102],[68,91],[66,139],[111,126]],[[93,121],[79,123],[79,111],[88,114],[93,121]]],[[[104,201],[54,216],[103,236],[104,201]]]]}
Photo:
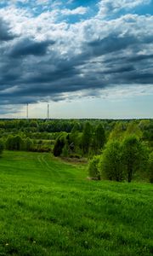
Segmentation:
{"type": "Polygon", "coordinates": [[[133,174],[144,168],[148,156],[147,148],[138,137],[132,135],[124,139],[122,143],[122,162],[128,183],[133,179],[133,174]]]}

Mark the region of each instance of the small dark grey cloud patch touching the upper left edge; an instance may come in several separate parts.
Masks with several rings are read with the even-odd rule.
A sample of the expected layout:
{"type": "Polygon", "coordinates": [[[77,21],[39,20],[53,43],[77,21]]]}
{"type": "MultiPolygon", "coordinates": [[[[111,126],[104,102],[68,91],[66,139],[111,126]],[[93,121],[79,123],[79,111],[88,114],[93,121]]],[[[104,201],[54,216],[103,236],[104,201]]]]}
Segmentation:
{"type": "Polygon", "coordinates": [[[12,34],[12,32],[10,32],[8,23],[0,18],[0,42],[12,40],[14,37],[15,36],[12,34]]]}

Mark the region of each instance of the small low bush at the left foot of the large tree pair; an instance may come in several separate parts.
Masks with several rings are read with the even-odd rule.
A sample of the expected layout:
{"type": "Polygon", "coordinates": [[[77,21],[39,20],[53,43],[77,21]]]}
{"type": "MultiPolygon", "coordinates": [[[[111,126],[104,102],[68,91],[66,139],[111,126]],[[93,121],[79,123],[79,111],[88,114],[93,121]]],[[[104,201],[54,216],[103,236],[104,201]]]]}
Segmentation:
{"type": "Polygon", "coordinates": [[[92,160],[90,160],[88,165],[88,174],[89,177],[93,179],[100,179],[99,172],[99,156],[94,156],[92,160]]]}

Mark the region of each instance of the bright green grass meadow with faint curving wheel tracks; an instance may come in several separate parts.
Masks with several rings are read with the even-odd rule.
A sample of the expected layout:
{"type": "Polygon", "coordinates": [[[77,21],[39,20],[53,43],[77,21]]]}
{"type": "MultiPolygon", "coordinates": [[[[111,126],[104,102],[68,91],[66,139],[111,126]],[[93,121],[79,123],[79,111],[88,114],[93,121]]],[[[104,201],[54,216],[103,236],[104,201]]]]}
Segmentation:
{"type": "Polygon", "coordinates": [[[0,255],[153,255],[153,186],[95,182],[51,154],[0,159],[0,255]]]}

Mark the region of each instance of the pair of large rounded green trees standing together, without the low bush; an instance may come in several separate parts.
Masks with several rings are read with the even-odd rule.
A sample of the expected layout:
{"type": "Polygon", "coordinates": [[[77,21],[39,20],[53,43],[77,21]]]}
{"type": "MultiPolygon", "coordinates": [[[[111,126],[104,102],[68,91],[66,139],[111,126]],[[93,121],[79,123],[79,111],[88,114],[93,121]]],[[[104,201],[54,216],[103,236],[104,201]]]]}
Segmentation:
{"type": "Polygon", "coordinates": [[[107,143],[99,168],[101,175],[107,179],[118,182],[127,179],[130,183],[135,172],[146,169],[147,160],[148,148],[133,135],[126,137],[122,143],[107,143]]]}

